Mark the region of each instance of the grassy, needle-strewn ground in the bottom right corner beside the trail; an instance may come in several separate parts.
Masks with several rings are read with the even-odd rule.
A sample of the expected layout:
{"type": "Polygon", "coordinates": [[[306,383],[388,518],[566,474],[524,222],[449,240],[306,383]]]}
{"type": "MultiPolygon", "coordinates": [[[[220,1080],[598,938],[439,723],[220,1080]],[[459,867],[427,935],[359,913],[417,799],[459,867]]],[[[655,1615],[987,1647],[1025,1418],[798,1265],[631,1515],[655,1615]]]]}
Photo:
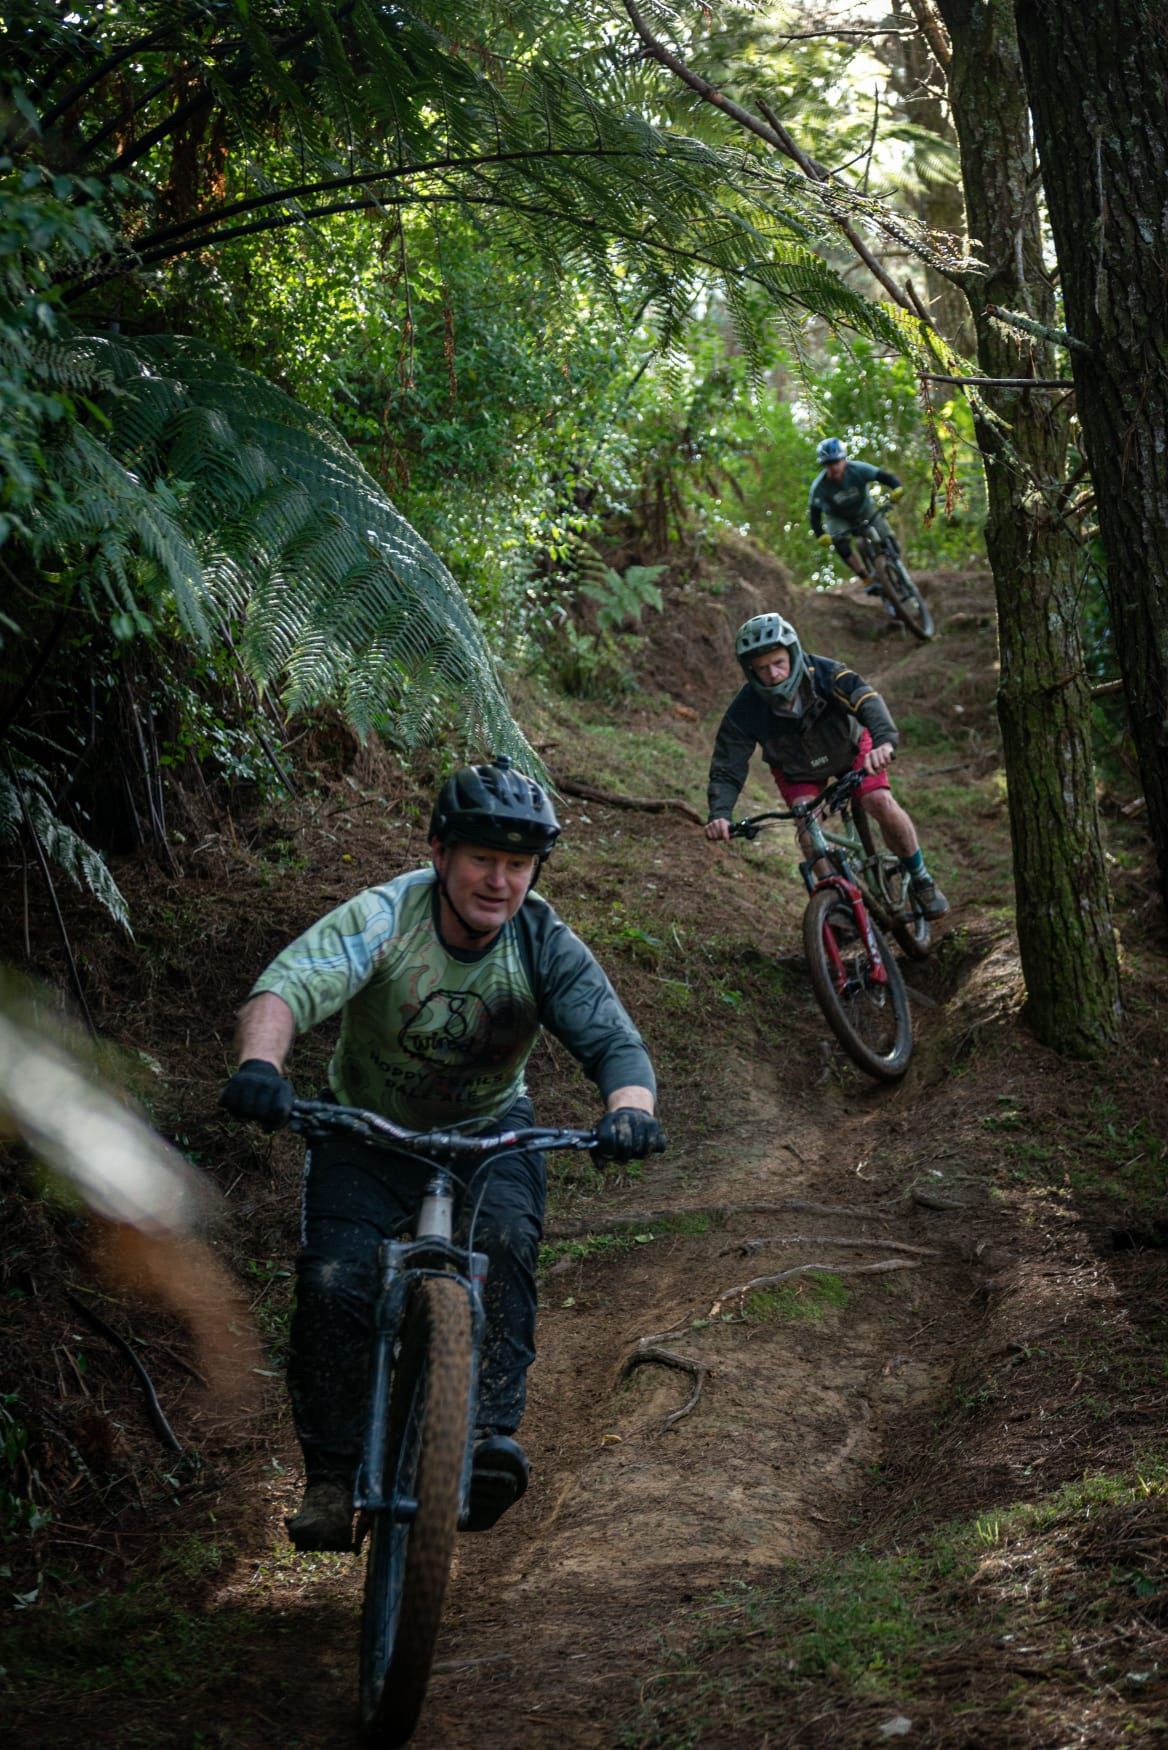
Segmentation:
{"type": "Polygon", "coordinates": [[[1079,1741],[1056,1722],[1063,1706],[1080,1720],[1087,1690],[1103,1696],[1098,1741],[1149,1743],[1168,1701],[1122,1626],[1168,1622],[1166,1533],[1168,1466],[1149,1458],[909,1547],[788,1563],[665,1626],[620,1743],[762,1743],[779,1718],[821,1745],[883,1741],[893,1718],[914,1741],[1030,1743],[1031,1706],[1056,1731],[1044,1743],[1079,1741]]]}

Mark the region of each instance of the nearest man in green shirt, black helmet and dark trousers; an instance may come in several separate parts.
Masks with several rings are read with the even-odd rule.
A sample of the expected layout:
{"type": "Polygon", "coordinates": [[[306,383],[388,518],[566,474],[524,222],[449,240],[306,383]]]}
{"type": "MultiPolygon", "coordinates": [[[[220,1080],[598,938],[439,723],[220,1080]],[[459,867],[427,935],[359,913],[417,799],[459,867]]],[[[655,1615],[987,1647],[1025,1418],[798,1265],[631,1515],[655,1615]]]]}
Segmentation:
{"type": "MultiPolygon", "coordinates": [[[[431,866],[336,906],[256,980],[221,1104],[268,1130],[287,1124],[292,1040],[340,1013],[327,1073],[340,1104],[415,1130],[522,1129],[532,1124],[525,1064],[546,1027],[604,1099],[601,1158],[660,1152],[644,1043],[590,950],[532,892],[559,835],[546,793],[510,760],[457,770],[431,816],[431,866]]],[[[308,1150],[287,1367],[306,1482],[287,1521],[298,1549],[352,1547],[376,1248],[403,1230],[427,1176],[426,1162],[343,1134],[308,1150]]],[[[462,1197],[489,1258],[475,1531],[527,1488],[515,1432],[534,1360],[545,1197],[534,1150],[492,1157],[462,1197]]]]}

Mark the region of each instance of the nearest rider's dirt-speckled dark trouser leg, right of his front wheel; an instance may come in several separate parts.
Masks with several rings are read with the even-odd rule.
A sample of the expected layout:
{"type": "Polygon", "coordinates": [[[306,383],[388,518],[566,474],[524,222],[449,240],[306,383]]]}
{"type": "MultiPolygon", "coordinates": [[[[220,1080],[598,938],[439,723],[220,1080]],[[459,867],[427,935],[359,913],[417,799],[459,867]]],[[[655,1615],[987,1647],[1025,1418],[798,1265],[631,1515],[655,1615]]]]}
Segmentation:
{"type": "MultiPolygon", "coordinates": [[[[531,1116],[508,1113],[506,1122],[531,1124],[531,1116]]],[[[471,1180],[466,1216],[480,1190],[475,1250],[487,1253],[489,1270],[478,1428],[513,1433],[527,1400],[527,1368],[536,1358],[536,1265],[546,1202],[543,1155],[525,1152],[492,1162],[485,1188],[482,1178],[471,1180]]]]}

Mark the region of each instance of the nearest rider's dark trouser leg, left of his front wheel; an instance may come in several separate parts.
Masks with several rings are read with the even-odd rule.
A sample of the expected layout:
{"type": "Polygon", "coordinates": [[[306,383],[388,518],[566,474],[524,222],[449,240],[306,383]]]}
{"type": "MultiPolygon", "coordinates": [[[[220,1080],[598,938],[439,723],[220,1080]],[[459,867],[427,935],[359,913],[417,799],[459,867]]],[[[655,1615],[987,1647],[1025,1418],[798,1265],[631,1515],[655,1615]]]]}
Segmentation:
{"type": "Polygon", "coordinates": [[[406,1225],[417,1169],[352,1143],[305,1158],[287,1384],[305,1475],[350,1479],[361,1456],[376,1248],[406,1225]]]}

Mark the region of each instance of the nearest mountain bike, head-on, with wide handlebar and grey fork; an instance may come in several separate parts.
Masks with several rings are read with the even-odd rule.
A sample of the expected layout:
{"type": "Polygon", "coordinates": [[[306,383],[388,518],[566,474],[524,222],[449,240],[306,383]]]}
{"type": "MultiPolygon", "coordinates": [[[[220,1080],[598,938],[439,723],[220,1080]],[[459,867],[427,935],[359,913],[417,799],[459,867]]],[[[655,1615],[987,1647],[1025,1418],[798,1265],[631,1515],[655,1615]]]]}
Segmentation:
{"type": "Polygon", "coordinates": [[[308,1141],[343,1130],[433,1166],[413,1239],[378,1246],[369,1402],[354,1484],[355,1549],[368,1538],[361,1729],[368,1743],[396,1746],[412,1738],[422,1712],[454,1538],[469,1514],[487,1258],[471,1242],[454,1244],[461,1183],[454,1162],[513,1148],[587,1150],[597,1139],[595,1130],[403,1130],[355,1106],[301,1099],[291,1125],[308,1141]]]}

